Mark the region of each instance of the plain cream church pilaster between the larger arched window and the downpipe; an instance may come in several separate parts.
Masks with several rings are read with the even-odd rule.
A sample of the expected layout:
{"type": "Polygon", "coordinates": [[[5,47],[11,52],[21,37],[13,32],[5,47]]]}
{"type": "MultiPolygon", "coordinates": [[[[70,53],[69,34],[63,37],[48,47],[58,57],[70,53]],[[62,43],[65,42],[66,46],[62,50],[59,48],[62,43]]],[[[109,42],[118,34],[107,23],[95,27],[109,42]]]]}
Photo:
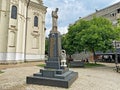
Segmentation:
{"type": "Polygon", "coordinates": [[[16,60],[24,60],[26,4],[21,0],[19,0],[18,21],[16,60]]]}

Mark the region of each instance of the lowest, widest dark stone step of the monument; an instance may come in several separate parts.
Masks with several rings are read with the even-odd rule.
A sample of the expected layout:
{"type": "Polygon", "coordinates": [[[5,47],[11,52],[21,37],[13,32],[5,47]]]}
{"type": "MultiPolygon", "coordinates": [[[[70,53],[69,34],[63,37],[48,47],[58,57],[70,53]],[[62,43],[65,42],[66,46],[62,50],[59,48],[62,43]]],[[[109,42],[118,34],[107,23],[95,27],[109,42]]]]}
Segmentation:
{"type": "Polygon", "coordinates": [[[65,79],[28,76],[26,78],[26,83],[68,88],[77,79],[77,77],[77,72],[72,72],[65,79]]]}

